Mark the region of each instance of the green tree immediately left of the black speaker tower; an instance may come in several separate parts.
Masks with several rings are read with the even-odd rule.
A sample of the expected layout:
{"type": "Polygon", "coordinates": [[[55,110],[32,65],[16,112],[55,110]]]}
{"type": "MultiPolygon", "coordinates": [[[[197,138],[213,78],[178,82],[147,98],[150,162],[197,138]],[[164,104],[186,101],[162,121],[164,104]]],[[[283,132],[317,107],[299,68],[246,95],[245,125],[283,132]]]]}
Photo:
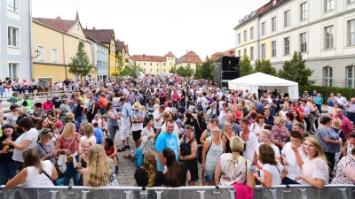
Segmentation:
{"type": "Polygon", "coordinates": [[[196,64],[194,73],[196,79],[214,80],[215,78],[215,63],[212,57],[206,56],[205,60],[200,64],[196,64]]]}

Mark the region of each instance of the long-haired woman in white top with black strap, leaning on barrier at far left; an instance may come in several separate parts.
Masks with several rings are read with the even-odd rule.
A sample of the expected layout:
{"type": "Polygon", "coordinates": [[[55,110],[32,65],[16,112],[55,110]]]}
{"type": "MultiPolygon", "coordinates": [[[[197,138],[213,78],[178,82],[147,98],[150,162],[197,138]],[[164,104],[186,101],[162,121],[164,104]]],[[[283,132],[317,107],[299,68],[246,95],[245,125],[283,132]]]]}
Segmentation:
{"type": "Polygon", "coordinates": [[[18,185],[22,187],[38,186],[51,187],[53,180],[57,180],[58,174],[51,161],[42,161],[38,150],[35,148],[25,149],[22,152],[24,168],[9,182],[4,189],[12,189],[18,185]]]}

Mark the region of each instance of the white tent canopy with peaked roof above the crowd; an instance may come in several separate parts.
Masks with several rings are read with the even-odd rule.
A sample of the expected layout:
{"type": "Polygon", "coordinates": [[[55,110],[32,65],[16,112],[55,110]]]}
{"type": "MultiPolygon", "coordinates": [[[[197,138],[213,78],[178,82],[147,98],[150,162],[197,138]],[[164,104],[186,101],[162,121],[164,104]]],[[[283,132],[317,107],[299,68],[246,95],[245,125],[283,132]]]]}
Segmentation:
{"type": "Polygon", "coordinates": [[[265,73],[249,74],[235,80],[228,81],[229,89],[248,89],[249,93],[256,93],[258,89],[271,90],[278,89],[279,93],[288,93],[289,98],[298,99],[298,83],[284,80],[265,73]]]}

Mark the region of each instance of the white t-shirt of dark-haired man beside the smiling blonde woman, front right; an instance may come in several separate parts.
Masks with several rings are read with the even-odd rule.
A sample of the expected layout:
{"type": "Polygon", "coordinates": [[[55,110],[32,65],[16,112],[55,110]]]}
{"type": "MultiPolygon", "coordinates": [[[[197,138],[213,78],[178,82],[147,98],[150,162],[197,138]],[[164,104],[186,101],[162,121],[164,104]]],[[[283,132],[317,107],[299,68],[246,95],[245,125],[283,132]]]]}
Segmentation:
{"type": "MultiPolygon", "coordinates": [[[[287,142],[281,150],[281,154],[285,155],[286,160],[288,161],[288,165],[285,165],[285,168],[288,170],[288,175],[286,177],[288,177],[290,180],[295,180],[297,175],[302,174],[302,169],[297,164],[295,152],[293,149],[291,149],[291,144],[291,142],[287,142]]],[[[300,157],[304,159],[305,155],[302,146],[298,147],[297,150],[300,157]]],[[[297,181],[301,183],[301,180],[297,181]]]]}

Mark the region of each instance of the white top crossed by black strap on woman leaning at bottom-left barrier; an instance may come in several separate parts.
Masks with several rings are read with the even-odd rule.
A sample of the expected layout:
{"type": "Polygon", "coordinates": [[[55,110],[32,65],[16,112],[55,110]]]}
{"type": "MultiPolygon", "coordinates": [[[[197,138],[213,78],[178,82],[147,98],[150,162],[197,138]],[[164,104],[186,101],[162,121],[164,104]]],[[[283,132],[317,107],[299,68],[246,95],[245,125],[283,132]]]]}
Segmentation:
{"type": "MultiPolygon", "coordinates": [[[[43,170],[51,177],[51,170],[53,169],[50,160],[41,161],[43,165],[43,170]]],[[[43,173],[39,174],[35,166],[28,166],[28,176],[26,180],[22,183],[23,187],[27,186],[39,186],[39,187],[50,187],[54,186],[51,180],[43,173]]]]}

